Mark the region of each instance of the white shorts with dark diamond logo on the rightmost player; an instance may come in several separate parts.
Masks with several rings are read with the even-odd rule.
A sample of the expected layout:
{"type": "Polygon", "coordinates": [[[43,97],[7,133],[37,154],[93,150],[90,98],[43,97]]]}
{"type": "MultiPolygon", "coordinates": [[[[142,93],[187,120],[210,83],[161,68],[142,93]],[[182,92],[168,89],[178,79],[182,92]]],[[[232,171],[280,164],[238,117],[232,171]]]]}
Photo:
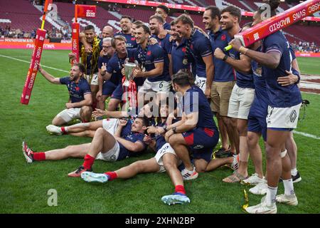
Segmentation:
{"type": "Polygon", "coordinates": [[[299,105],[289,108],[272,108],[268,106],[267,128],[297,128],[299,105]]]}

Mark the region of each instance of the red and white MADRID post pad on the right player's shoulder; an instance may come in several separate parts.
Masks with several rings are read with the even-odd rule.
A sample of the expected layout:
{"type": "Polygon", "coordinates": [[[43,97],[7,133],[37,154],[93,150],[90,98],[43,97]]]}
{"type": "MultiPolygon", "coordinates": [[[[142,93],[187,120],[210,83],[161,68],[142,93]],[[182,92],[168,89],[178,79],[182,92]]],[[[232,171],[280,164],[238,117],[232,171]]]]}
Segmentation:
{"type": "Polygon", "coordinates": [[[302,4],[292,7],[270,19],[262,21],[260,24],[248,28],[242,33],[235,35],[235,38],[240,38],[244,46],[259,41],[266,36],[269,36],[276,31],[286,28],[289,25],[304,19],[304,17],[316,13],[320,9],[320,0],[308,0],[302,4]]]}

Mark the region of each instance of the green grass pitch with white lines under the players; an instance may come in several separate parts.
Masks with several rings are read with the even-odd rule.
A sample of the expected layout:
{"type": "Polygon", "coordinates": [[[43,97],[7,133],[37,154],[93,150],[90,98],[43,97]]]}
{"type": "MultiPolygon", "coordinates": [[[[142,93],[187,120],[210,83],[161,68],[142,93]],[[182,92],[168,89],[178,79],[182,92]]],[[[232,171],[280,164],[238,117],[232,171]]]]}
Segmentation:
{"type": "MultiPolygon", "coordinates": [[[[0,49],[0,55],[30,61],[31,51],[0,49]]],[[[299,58],[299,61],[304,62],[301,64],[302,72],[317,71],[314,65],[314,69],[309,68],[309,64],[314,64],[314,59],[299,58]]],[[[68,51],[43,51],[41,63],[68,71],[68,51]]],[[[114,180],[98,185],[67,177],[68,172],[82,164],[81,159],[27,164],[21,151],[23,140],[36,151],[90,142],[90,138],[53,136],[46,132],[46,125],[64,109],[68,100],[65,86],[50,84],[39,73],[29,105],[21,105],[20,96],[28,66],[28,63],[0,56],[0,83],[3,89],[0,106],[0,213],[242,213],[240,207],[244,202],[244,186],[221,181],[232,173],[227,167],[200,174],[198,179],[186,182],[191,204],[167,206],[161,202],[161,197],[171,194],[174,187],[165,173],[138,175],[131,180],[114,180]],[[57,207],[47,204],[50,189],[58,192],[57,207]]],[[[54,76],[66,75],[43,68],[54,76]]],[[[303,93],[303,97],[311,104],[306,108],[306,118],[299,123],[297,130],[319,137],[320,96],[303,93]]],[[[278,212],[319,213],[320,141],[302,135],[295,135],[295,140],[299,147],[297,164],[302,175],[302,182],[294,185],[299,205],[278,205],[278,212]]],[[[152,156],[146,154],[139,159],[152,156]]],[[[95,172],[117,170],[137,159],[114,163],[97,161],[93,168],[95,172]]],[[[249,173],[252,172],[250,163],[249,173]]],[[[283,185],[279,185],[279,192],[283,191],[283,185]]],[[[249,195],[250,205],[257,204],[260,199],[260,196],[249,195]]]]}

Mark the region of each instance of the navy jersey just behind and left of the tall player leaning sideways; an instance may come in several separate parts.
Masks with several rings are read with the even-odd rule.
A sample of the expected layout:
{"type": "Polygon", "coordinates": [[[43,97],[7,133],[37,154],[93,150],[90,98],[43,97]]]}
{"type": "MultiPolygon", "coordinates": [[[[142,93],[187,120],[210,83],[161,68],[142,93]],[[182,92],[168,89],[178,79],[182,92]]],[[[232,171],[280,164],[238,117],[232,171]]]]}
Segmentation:
{"type": "MultiPolygon", "coordinates": [[[[171,58],[172,58],[172,69],[173,73],[178,73],[181,69],[190,69],[191,58],[188,58],[188,63],[183,64],[183,58],[186,55],[186,40],[177,45],[176,42],[173,43],[171,49],[171,58]]],[[[193,61],[194,62],[194,61],[193,61]]],[[[194,64],[193,64],[194,65],[194,64]]]]}

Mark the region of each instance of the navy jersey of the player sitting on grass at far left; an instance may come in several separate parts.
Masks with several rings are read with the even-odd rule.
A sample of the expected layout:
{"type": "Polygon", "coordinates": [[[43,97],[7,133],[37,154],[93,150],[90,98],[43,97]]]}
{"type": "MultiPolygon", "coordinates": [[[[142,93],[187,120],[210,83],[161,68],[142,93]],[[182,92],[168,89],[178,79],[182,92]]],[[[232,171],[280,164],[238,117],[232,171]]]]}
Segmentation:
{"type": "Polygon", "coordinates": [[[70,81],[70,77],[60,78],[60,83],[67,85],[71,103],[85,100],[85,94],[91,93],[90,85],[85,78],[80,78],[78,83],[70,81]]]}

